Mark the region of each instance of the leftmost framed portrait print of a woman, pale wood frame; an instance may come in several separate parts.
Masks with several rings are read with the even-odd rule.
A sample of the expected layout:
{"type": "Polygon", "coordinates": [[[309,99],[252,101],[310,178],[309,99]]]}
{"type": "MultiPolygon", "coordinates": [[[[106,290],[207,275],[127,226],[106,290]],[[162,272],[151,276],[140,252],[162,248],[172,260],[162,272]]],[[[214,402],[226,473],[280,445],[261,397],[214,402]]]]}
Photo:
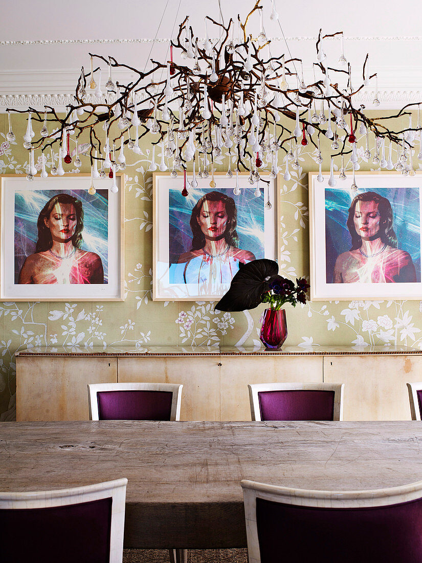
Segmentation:
{"type": "Polygon", "coordinates": [[[2,301],[123,301],[124,176],[1,178],[2,301]]]}

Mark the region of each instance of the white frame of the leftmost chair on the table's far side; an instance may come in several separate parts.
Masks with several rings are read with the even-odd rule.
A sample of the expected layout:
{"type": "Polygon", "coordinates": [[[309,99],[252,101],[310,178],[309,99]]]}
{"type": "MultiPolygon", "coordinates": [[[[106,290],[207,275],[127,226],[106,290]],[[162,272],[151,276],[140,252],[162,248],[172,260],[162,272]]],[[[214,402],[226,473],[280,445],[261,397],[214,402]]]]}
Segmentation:
{"type": "Polygon", "coordinates": [[[98,401],[97,392],[100,391],[171,391],[172,409],[170,421],[180,420],[180,405],[182,401],[182,387],[173,383],[88,383],[89,420],[97,421],[98,401]]]}

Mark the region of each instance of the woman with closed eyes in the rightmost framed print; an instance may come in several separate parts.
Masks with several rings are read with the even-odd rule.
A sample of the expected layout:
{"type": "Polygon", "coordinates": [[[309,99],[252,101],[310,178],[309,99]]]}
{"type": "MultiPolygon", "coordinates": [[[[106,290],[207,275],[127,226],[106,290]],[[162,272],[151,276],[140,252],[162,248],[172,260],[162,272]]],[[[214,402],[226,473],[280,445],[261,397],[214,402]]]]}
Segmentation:
{"type": "Polygon", "coordinates": [[[393,210],[374,191],[358,194],[349,207],[351,249],[339,254],[334,283],[412,283],[416,270],[408,252],[398,248],[393,210]]]}

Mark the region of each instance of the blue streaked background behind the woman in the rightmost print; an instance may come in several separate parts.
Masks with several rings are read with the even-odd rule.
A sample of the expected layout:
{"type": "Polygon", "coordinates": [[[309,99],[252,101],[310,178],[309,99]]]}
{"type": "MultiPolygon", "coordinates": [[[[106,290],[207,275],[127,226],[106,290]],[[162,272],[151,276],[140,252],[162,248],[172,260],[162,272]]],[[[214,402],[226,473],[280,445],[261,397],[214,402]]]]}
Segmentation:
{"type": "Polygon", "coordinates": [[[416,269],[416,280],[420,282],[420,202],[419,189],[374,187],[358,190],[325,190],[325,243],[326,243],[326,280],[333,283],[336,258],[342,252],[349,251],[352,238],[346,222],[349,207],[355,195],[366,191],[387,198],[393,209],[393,229],[397,236],[398,248],[412,257],[416,269]]]}

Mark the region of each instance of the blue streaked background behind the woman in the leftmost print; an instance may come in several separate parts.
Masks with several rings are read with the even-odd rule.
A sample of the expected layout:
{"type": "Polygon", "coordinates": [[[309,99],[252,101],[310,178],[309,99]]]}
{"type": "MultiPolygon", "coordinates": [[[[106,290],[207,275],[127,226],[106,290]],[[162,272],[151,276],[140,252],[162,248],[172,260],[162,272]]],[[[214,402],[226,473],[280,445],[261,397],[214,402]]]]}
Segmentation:
{"type": "Polygon", "coordinates": [[[26,257],[35,252],[38,240],[39,213],[53,195],[64,193],[82,201],[82,249],[100,256],[104,268],[104,283],[109,276],[109,193],[97,190],[89,195],[87,190],[30,190],[15,193],[15,283],[26,257]]]}

